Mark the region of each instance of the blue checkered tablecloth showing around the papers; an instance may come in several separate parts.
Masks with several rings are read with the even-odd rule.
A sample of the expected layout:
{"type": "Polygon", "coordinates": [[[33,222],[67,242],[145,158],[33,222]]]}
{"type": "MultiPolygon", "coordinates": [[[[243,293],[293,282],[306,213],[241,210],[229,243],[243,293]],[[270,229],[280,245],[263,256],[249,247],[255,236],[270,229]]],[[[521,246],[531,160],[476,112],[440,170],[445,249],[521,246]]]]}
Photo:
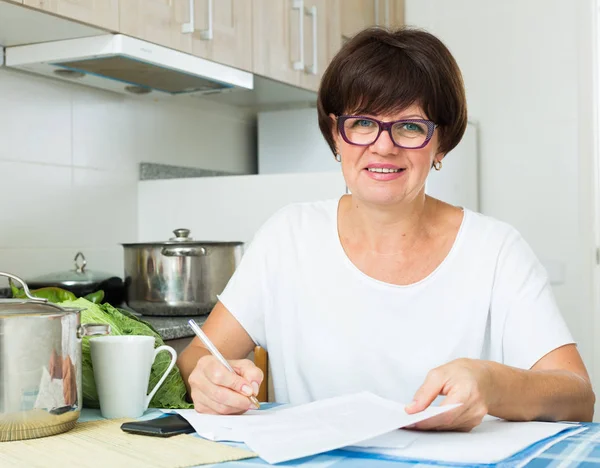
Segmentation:
{"type": "MultiPolygon", "coordinates": [[[[158,411],[150,411],[145,418],[156,417],[162,414],[158,411]]],[[[99,419],[101,416],[97,410],[84,409],[81,420],[99,419]]],[[[144,419],[145,419],[144,418],[144,419]]],[[[525,468],[600,468],[600,424],[583,423],[586,427],[584,432],[574,434],[548,448],[533,460],[529,461],[525,468]]],[[[197,436],[196,436],[197,437],[197,436]]],[[[243,444],[231,444],[243,447],[243,444]]],[[[530,450],[535,450],[535,446],[530,450]]],[[[441,466],[454,467],[495,467],[510,468],[520,466],[522,455],[517,455],[504,463],[495,465],[466,465],[466,464],[444,464],[427,463],[416,460],[390,460],[385,457],[364,453],[353,453],[344,450],[335,450],[322,455],[279,463],[275,466],[298,467],[298,468],[440,468],[441,466]]],[[[203,465],[203,468],[256,468],[273,466],[260,458],[251,458],[237,462],[220,463],[218,465],[203,465]]]]}

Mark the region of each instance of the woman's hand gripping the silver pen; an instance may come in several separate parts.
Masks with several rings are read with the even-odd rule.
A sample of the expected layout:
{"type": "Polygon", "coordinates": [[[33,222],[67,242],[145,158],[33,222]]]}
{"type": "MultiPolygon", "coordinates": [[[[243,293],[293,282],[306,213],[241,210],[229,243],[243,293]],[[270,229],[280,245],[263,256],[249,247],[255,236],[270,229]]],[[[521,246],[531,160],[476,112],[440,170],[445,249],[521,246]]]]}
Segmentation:
{"type": "Polygon", "coordinates": [[[249,397],[258,394],[262,371],[248,359],[229,364],[235,374],[212,355],[198,359],[189,384],[194,408],[199,413],[241,414],[256,409],[249,397]]]}

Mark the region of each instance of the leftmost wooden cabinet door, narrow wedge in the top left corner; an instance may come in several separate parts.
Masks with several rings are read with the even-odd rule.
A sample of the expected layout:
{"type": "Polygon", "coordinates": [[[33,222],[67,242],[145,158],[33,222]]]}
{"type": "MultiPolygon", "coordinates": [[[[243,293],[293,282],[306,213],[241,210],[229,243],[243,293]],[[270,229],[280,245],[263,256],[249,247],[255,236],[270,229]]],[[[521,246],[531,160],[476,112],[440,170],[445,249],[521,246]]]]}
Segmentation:
{"type": "Polygon", "coordinates": [[[23,4],[110,31],[119,30],[119,0],[24,0],[23,4]]]}

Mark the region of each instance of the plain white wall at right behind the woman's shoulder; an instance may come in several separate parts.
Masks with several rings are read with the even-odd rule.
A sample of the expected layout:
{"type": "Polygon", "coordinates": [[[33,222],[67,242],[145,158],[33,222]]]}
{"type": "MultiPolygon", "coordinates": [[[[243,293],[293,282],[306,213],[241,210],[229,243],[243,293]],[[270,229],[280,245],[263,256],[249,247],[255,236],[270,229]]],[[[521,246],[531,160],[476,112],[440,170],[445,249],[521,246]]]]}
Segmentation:
{"type": "MultiPolygon", "coordinates": [[[[481,210],[564,267],[554,291],[591,371],[594,15],[592,0],[406,2],[408,24],[442,39],[463,71],[481,210]]],[[[594,380],[600,391],[600,372],[594,380]]]]}

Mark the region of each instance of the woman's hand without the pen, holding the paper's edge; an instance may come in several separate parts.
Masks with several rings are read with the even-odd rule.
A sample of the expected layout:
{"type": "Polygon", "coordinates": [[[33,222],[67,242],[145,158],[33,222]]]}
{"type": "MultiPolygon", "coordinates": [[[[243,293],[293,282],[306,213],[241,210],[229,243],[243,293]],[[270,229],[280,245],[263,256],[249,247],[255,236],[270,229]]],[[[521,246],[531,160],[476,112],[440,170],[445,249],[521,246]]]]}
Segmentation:
{"type": "Polygon", "coordinates": [[[413,402],[409,414],[427,408],[438,395],[445,395],[442,405],[461,406],[411,426],[420,430],[470,431],[478,426],[495,398],[489,363],[476,359],[456,359],[431,370],[413,402]]]}

